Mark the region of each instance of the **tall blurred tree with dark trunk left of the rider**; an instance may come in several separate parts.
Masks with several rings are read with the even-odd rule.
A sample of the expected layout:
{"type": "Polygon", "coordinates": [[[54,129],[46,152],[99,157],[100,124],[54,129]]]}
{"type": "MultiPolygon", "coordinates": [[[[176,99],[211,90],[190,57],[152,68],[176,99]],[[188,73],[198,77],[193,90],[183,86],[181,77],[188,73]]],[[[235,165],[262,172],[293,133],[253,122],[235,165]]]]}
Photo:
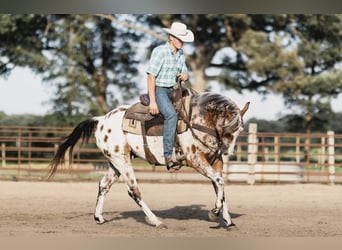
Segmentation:
{"type": "Polygon", "coordinates": [[[136,95],[134,32],[119,30],[109,20],[92,15],[54,15],[51,22],[51,59],[45,80],[58,87],[56,112],[103,114],[120,98],[136,95]]]}

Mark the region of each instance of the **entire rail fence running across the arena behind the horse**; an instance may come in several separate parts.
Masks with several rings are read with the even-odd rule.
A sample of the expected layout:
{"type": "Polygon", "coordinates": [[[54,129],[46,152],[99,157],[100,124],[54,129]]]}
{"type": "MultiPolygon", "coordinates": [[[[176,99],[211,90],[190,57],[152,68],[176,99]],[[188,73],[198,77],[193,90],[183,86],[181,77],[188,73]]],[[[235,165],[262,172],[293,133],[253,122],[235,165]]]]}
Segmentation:
{"type": "MultiPolygon", "coordinates": [[[[60,139],[71,130],[0,126],[0,179],[45,180],[60,139]]],[[[228,183],[342,183],[342,135],[332,131],[260,133],[256,124],[250,124],[247,130],[237,141],[235,155],[224,156],[224,177],[228,183]]],[[[73,162],[71,166],[61,166],[57,180],[98,181],[107,167],[94,138],[88,144],[75,147],[73,162]]],[[[141,160],[134,160],[134,165],[141,173],[140,178],[204,180],[190,178],[191,174],[198,174],[189,168],[183,168],[179,174],[169,174],[164,167],[154,168],[141,160]],[[155,174],[158,176],[153,177],[155,174]]]]}

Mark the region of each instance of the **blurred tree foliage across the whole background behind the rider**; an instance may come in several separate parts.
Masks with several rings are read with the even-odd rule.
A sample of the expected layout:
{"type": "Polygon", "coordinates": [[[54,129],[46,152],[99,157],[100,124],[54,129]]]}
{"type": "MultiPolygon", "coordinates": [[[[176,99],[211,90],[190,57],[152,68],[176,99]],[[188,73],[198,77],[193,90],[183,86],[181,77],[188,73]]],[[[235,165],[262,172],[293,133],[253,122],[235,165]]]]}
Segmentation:
{"type": "MultiPolygon", "coordinates": [[[[328,129],[342,88],[342,16],[303,14],[115,15],[156,33],[172,21],[195,33],[187,45],[194,86],[277,93],[291,116],[278,129],[328,129]],[[284,126],[284,127],[283,127],[284,126]]],[[[28,66],[56,86],[54,124],[103,114],[138,94],[141,49],[160,40],[94,15],[0,15],[0,74],[28,66]]],[[[166,34],[165,34],[166,37],[166,34]]],[[[1,116],[0,116],[1,117],[1,116]]],[[[272,125],[272,126],[273,126],[272,125]]],[[[279,126],[278,126],[279,125],[279,126]]],[[[265,124],[266,126],[266,124],[265,124]]]]}

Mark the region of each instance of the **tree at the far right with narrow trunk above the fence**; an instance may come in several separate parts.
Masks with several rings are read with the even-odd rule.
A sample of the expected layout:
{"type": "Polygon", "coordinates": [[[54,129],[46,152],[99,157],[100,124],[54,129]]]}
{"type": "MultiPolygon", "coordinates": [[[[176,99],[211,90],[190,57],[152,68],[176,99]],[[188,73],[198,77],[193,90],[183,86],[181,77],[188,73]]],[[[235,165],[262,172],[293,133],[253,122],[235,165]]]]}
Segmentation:
{"type": "Polygon", "coordinates": [[[300,38],[297,61],[304,66],[294,80],[276,87],[288,105],[304,111],[305,130],[314,120],[332,113],[330,101],[340,93],[342,71],[342,19],[340,15],[296,15],[292,35],[300,38]]]}

